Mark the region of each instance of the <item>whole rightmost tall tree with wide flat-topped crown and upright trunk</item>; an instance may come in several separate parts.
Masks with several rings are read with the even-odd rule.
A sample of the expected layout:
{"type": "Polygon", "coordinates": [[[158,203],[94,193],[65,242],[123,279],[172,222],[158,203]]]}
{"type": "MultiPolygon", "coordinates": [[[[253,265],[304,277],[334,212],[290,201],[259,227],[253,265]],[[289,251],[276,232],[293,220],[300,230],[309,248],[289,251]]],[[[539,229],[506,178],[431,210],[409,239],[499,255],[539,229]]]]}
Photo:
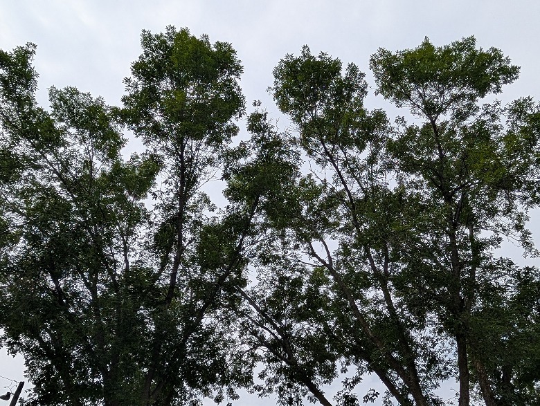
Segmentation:
{"type": "MultiPolygon", "coordinates": [[[[476,48],[474,37],[443,47],[426,39],[418,48],[397,53],[381,49],[370,66],[377,91],[420,120],[402,120],[388,145],[402,184],[418,192],[423,206],[413,220],[424,234],[421,245],[402,257],[402,287],[409,287],[404,297],[419,310],[424,304],[420,311],[433,312],[453,338],[459,405],[469,405],[471,373],[486,405],[508,404],[503,398],[510,395],[497,398],[489,374],[493,368],[499,371],[495,375],[500,368],[517,373],[516,360],[505,367],[485,364],[494,344],[507,347],[505,335],[513,337],[519,329],[507,320],[489,324],[493,314],[509,317],[520,290],[532,288],[523,285],[522,273],[532,286],[539,274],[516,269],[493,252],[506,236],[536,254],[525,224],[528,210],[538,204],[539,107],[530,98],[507,107],[497,101],[479,104],[516,80],[519,68],[501,50],[476,48]],[[498,332],[488,344],[483,337],[494,329],[498,332]]],[[[521,362],[532,361],[532,353],[519,353],[521,362]]],[[[537,391],[529,394],[527,402],[537,399],[537,391]]]]}

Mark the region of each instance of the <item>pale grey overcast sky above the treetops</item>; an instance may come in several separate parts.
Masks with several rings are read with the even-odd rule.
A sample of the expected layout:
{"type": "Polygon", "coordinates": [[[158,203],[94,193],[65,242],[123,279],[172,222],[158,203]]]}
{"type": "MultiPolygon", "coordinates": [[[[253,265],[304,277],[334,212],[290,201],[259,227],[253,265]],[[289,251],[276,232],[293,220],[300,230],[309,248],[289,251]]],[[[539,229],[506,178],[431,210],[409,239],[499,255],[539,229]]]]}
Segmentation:
{"type": "MultiPolygon", "coordinates": [[[[444,45],[474,35],[479,46],[501,48],[521,66],[520,79],[498,97],[508,102],[522,95],[540,98],[539,17],[538,0],[0,0],[0,48],[37,44],[38,101],[45,107],[46,89],[53,85],[76,86],[119,104],[123,77],[141,50],[141,30],[188,27],[197,37],[231,42],[244,64],[246,100],[262,100],[276,111],[266,92],[271,71],[305,44],[312,53],[322,50],[356,63],[373,86],[368,60],[377,48],[413,48],[426,36],[444,45]]],[[[386,106],[372,95],[366,103],[386,106]]],[[[533,216],[533,230],[537,219],[533,216]]],[[[519,255],[510,246],[503,251],[519,255]]],[[[23,380],[23,371],[21,357],[0,350],[0,376],[23,380]]],[[[0,391],[8,383],[0,379],[0,391]]],[[[248,398],[238,403],[250,404],[275,403],[248,398]]]]}

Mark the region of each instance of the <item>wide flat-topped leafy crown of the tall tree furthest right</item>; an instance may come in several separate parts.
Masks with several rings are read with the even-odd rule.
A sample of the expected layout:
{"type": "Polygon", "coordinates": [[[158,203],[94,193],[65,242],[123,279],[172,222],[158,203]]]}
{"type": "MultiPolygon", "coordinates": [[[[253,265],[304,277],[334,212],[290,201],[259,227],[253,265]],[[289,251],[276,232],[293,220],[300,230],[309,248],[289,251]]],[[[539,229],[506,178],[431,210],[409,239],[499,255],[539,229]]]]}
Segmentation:
{"type": "Polygon", "coordinates": [[[500,93],[519,74],[501,50],[477,49],[474,37],[442,47],[426,37],[417,48],[397,53],[381,48],[370,58],[370,68],[381,95],[433,120],[466,120],[478,99],[500,93]]]}

